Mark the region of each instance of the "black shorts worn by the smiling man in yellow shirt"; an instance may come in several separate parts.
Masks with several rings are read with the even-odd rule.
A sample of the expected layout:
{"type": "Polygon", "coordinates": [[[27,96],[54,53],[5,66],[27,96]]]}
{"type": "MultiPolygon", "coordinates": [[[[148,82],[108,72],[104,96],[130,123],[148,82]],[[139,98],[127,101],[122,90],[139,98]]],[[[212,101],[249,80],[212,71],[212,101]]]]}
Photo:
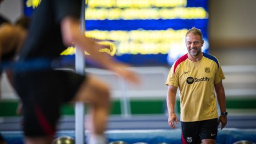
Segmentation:
{"type": "Polygon", "coordinates": [[[203,139],[217,138],[218,118],[197,122],[181,122],[182,143],[201,143],[203,139]]]}

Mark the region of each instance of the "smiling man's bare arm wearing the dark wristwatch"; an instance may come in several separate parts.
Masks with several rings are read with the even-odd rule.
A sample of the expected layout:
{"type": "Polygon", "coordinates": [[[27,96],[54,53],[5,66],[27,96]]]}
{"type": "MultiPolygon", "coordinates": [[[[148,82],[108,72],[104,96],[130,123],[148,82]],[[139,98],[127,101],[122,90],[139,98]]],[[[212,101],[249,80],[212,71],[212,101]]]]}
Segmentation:
{"type": "MultiPolygon", "coordinates": [[[[219,103],[220,111],[221,113],[224,113],[226,112],[226,95],[222,81],[220,81],[218,84],[214,84],[214,87],[217,94],[217,100],[219,103]]],[[[219,124],[221,123],[220,130],[222,130],[226,126],[227,121],[227,116],[220,115],[218,120],[219,124]]]]}

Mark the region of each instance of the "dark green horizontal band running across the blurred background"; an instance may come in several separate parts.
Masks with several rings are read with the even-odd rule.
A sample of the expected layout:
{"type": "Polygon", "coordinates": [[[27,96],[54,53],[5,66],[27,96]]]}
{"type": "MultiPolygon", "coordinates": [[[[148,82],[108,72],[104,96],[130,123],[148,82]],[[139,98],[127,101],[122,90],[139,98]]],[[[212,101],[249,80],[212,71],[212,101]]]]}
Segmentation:
{"type": "MultiPolygon", "coordinates": [[[[256,109],[256,98],[252,99],[227,99],[227,109],[256,109]]],[[[0,102],[0,116],[16,116],[17,101],[4,100],[0,102]]],[[[177,113],[180,113],[180,101],[176,102],[177,113]]],[[[62,115],[75,114],[74,103],[65,103],[61,107],[62,115]]],[[[132,114],[164,114],[165,100],[131,100],[132,114]]],[[[86,109],[85,109],[86,113],[86,109]]],[[[115,100],[111,103],[110,114],[121,114],[121,103],[115,100]]]]}

